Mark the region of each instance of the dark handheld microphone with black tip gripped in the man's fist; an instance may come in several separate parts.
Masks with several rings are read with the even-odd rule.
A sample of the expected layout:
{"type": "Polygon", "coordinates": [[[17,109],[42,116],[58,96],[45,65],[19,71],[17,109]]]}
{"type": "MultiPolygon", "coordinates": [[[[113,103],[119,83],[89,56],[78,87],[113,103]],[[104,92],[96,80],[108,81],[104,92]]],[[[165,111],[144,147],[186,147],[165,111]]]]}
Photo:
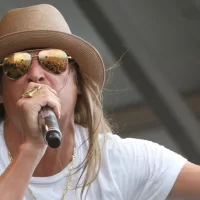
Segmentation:
{"type": "Polygon", "coordinates": [[[38,114],[38,124],[43,134],[44,141],[51,148],[57,148],[61,144],[62,133],[53,110],[47,106],[43,107],[38,114]]]}

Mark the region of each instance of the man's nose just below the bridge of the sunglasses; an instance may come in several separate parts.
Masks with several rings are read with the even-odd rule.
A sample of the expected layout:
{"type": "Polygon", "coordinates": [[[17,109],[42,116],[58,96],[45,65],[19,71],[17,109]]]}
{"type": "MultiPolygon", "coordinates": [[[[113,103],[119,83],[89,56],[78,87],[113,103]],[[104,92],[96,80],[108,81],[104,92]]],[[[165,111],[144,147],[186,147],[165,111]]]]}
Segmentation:
{"type": "Polygon", "coordinates": [[[27,73],[28,82],[40,83],[45,80],[44,69],[38,59],[33,58],[30,69],[27,73]]]}

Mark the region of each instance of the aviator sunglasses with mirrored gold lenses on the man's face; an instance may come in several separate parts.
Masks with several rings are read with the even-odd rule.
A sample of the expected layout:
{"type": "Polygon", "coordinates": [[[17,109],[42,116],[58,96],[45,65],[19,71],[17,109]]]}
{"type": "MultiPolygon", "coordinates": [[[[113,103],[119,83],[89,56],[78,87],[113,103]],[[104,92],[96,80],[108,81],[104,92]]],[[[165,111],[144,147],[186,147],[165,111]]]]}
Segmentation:
{"type": "Polygon", "coordinates": [[[13,53],[4,58],[0,66],[9,79],[16,80],[29,71],[34,57],[38,57],[40,65],[52,74],[63,73],[68,67],[68,59],[71,59],[71,56],[60,49],[35,49],[13,53]],[[30,54],[37,50],[39,52],[36,55],[30,54]]]}

